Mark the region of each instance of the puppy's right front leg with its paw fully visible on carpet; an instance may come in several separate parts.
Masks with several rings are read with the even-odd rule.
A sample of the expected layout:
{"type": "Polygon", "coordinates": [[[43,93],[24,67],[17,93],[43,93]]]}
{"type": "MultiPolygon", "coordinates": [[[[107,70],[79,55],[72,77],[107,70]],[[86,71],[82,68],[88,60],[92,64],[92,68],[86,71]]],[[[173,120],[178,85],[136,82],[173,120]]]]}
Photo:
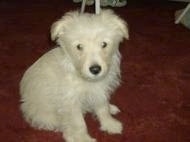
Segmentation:
{"type": "Polygon", "coordinates": [[[96,106],[95,113],[100,121],[101,130],[110,134],[120,134],[122,132],[121,122],[111,116],[109,102],[96,106]]]}

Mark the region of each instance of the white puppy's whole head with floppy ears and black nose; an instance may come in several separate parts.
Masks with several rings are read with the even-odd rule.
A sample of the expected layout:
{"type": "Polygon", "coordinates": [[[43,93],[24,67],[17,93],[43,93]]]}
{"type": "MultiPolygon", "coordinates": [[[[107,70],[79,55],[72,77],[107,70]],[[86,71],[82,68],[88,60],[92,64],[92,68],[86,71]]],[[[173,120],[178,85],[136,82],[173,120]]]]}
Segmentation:
{"type": "Polygon", "coordinates": [[[128,30],[110,10],[99,15],[70,12],[53,24],[51,36],[83,78],[97,80],[108,73],[119,43],[128,38],[128,30]]]}

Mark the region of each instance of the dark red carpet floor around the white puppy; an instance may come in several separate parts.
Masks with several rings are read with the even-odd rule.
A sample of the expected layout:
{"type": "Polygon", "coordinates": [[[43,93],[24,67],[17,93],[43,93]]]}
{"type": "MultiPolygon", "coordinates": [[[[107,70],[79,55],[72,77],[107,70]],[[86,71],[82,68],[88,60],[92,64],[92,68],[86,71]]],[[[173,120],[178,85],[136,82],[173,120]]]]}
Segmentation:
{"type": "MultiPolygon", "coordinates": [[[[18,88],[27,67],[51,49],[51,24],[79,7],[71,0],[0,1],[1,142],[64,141],[61,133],[24,121],[18,88]]],[[[113,8],[130,28],[130,40],[120,48],[122,84],[111,100],[122,110],[116,117],[124,130],[100,132],[97,120],[87,115],[89,133],[98,142],[190,142],[190,30],[174,24],[174,11],[183,7],[136,0],[113,8]]]]}

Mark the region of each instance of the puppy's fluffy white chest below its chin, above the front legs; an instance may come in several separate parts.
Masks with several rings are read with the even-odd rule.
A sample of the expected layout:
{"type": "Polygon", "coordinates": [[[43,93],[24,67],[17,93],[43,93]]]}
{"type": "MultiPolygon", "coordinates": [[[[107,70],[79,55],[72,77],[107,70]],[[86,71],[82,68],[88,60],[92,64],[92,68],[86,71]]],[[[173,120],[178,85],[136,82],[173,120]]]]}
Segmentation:
{"type": "MultiPolygon", "coordinates": [[[[112,74],[111,74],[112,75],[112,74]]],[[[110,94],[118,86],[116,76],[107,76],[99,81],[86,81],[73,74],[60,78],[62,105],[78,105],[83,112],[92,111],[94,106],[107,101],[110,94]],[[69,103],[69,104],[68,104],[69,103]]]]}

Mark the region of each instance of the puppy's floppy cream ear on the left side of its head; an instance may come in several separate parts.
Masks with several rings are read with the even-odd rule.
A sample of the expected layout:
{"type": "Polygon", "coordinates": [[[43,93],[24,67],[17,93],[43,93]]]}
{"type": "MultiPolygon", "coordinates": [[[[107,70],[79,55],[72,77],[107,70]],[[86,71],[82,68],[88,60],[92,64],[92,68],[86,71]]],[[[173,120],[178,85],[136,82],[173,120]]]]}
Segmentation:
{"type": "Polygon", "coordinates": [[[77,17],[77,15],[79,15],[78,11],[68,12],[61,19],[52,24],[50,30],[52,41],[56,41],[64,34],[64,29],[75,17],[77,17]]]}

